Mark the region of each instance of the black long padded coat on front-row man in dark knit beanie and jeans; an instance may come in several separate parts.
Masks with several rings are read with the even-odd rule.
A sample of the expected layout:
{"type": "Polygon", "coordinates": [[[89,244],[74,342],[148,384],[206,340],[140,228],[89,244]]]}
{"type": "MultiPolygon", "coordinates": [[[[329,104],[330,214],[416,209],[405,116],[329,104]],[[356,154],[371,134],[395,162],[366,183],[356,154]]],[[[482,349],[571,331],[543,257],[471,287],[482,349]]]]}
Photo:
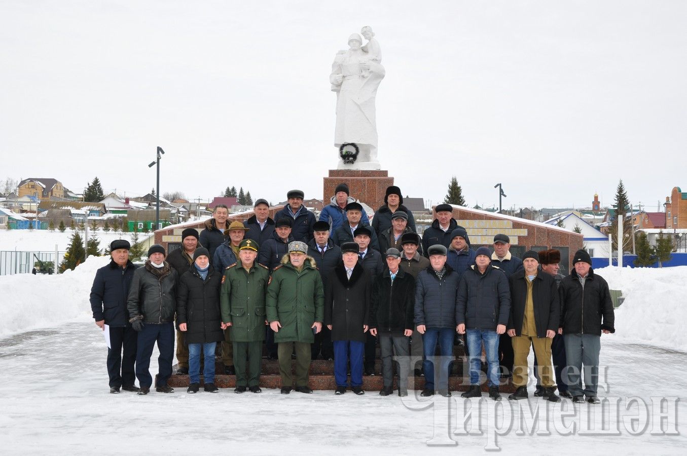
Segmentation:
{"type": "Polygon", "coordinates": [[[221,328],[219,287],[222,275],[210,266],[207,277],[192,264],[179,279],[177,323],[186,323],[186,343],[209,343],[224,340],[221,328]]]}

